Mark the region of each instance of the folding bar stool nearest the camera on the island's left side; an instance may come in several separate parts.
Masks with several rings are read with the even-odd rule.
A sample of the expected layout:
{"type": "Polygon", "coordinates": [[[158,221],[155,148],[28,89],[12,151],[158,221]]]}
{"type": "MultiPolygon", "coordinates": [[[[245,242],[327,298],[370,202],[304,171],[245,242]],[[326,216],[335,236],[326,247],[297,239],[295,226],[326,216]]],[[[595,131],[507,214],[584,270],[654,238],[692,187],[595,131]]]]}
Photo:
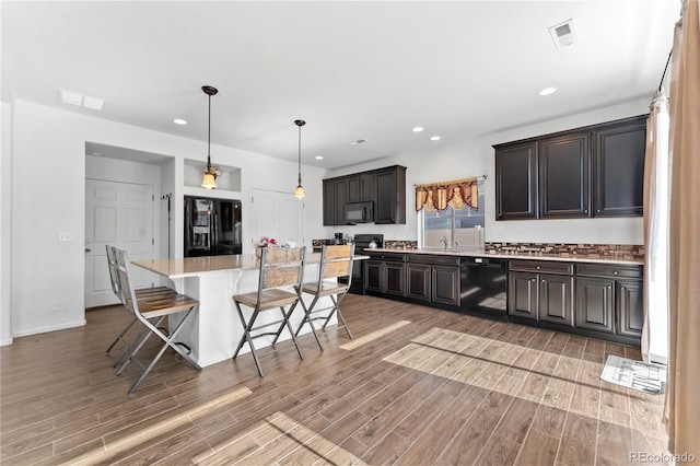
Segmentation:
{"type": "Polygon", "coordinates": [[[147,328],[145,335],[140,338],[138,345],[129,351],[127,360],[117,371],[117,375],[121,375],[124,370],[129,365],[131,361],[139,364],[143,372],[139,380],[133,384],[129,391],[129,395],[133,394],[139,385],[145,380],[151,370],[155,366],[167,348],[172,348],[179,356],[189,362],[195,369],[201,370],[201,368],[195,362],[189,353],[191,352],[186,345],[179,343],[175,340],[177,334],[183,329],[183,324],[187,322],[187,317],[195,311],[199,302],[184,294],[175,293],[170,295],[163,295],[160,298],[145,298],[139,299],[131,284],[130,277],[133,276],[131,271],[131,263],[126,251],[114,248],[114,255],[117,261],[117,275],[119,277],[119,287],[121,289],[125,306],[127,310],[133,313],[135,317],[140,321],[147,328]],[[176,314],[184,314],[179,319],[175,328],[171,334],[164,328],[160,327],[165,317],[176,314]],[[149,331],[150,330],[150,331],[149,331]],[[152,336],[156,336],[163,341],[163,346],[155,354],[151,363],[144,368],[137,359],[137,353],[141,350],[143,345],[152,336]]]}

